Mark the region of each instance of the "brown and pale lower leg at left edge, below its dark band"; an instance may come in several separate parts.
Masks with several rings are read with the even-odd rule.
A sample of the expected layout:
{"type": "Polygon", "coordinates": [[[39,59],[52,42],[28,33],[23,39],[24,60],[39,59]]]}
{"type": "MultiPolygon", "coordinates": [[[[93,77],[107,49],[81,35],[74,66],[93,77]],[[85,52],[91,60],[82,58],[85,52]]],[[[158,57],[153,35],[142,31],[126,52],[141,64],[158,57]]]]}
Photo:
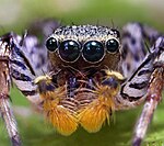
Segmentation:
{"type": "MultiPolygon", "coordinates": [[[[1,61],[1,60],[0,60],[1,61]]],[[[21,139],[9,98],[9,68],[8,63],[0,63],[0,113],[5,123],[13,146],[21,146],[21,139]]]]}

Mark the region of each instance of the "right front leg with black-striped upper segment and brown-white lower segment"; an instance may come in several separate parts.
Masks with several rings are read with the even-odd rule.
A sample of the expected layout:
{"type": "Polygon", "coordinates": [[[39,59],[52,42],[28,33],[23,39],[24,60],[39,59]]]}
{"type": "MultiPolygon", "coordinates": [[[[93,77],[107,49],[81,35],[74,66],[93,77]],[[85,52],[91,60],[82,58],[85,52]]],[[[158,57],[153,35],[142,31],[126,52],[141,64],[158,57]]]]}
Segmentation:
{"type": "Polygon", "coordinates": [[[136,108],[144,102],[142,114],[136,125],[133,146],[140,146],[154,110],[161,101],[164,77],[164,42],[159,37],[143,63],[121,86],[116,98],[118,110],[136,108]]]}

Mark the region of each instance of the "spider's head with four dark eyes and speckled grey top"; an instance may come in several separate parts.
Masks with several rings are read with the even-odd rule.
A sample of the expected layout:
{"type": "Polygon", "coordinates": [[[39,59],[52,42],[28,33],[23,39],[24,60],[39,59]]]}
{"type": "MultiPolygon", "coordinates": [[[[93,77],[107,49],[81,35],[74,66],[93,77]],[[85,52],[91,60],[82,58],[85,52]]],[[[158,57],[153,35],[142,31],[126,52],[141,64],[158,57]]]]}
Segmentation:
{"type": "Polygon", "coordinates": [[[47,38],[46,47],[54,66],[114,69],[119,61],[119,32],[106,26],[62,26],[47,38]]]}

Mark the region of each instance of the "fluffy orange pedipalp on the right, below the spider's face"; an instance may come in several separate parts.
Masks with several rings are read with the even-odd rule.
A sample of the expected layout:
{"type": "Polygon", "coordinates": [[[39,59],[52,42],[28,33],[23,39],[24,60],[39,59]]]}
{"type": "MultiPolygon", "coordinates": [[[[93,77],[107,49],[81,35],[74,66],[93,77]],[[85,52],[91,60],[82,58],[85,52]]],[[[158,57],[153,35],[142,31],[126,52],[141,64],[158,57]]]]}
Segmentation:
{"type": "Polygon", "coordinates": [[[78,115],[80,124],[87,132],[97,132],[106,120],[109,122],[109,115],[115,110],[114,98],[117,91],[118,89],[108,86],[98,86],[95,91],[97,99],[80,110],[78,115]]]}

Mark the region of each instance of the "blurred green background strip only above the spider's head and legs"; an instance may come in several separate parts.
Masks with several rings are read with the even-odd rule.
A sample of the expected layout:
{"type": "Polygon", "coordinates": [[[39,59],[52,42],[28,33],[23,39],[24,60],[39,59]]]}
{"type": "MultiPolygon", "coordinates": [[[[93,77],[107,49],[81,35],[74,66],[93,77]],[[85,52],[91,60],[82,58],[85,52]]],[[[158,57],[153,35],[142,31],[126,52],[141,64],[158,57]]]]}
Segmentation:
{"type": "Polygon", "coordinates": [[[163,0],[0,0],[0,26],[19,32],[36,19],[55,18],[63,24],[139,21],[162,29],[163,12],[163,0]]]}

